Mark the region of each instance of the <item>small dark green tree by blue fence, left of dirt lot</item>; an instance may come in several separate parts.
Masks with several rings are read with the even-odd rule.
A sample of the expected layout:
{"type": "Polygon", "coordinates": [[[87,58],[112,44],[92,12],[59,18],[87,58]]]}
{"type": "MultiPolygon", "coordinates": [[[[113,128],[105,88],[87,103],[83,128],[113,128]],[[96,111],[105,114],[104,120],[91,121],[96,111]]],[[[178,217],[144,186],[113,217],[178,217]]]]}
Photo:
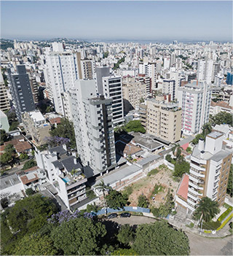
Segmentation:
{"type": "Polygon", "coordinates": [[[121,209],[127,203],[127,195],[116,190],[110,190],[106,195],[107,206],[113,209],[121,209]]]}

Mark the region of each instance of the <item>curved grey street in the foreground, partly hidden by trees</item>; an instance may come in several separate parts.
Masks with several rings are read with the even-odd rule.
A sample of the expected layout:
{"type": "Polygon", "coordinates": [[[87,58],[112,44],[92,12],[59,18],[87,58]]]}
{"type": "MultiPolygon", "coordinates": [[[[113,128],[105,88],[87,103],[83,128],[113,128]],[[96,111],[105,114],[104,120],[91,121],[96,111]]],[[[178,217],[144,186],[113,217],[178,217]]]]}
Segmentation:
{"type": "MultiPolygon", "coordinates": [[[[139,225],[155,221],[156,220],[152,218],[143,216],[131,216],[130,218],[117,217],[111,219],[111,222],[117,222],[122,225],[139,225]]],[[[187,236],[189,237],[191,255],[233,255],[232,236],[227,236],[226,238],[205,238],[195,235],[194,233],[187,233],[187,236]]]]}

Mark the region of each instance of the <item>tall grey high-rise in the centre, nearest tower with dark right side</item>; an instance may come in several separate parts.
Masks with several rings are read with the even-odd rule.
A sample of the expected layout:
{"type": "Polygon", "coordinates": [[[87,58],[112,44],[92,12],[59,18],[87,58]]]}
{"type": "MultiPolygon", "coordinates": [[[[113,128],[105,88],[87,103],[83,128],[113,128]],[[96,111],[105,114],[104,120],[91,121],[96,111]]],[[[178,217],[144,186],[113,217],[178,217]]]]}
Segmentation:
{"type": "Polygon", "coordinates": [[[77,152],[94,174],[116,166],[112,98],[97,96],[95,80],[77,80],[71,93],[77,152]]]}

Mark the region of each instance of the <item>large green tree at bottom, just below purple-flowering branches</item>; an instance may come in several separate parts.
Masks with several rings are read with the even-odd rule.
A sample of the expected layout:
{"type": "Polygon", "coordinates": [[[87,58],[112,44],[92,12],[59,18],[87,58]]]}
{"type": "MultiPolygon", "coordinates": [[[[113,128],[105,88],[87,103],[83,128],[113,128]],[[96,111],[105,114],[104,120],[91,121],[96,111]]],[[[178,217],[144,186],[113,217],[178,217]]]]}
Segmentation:
{"type": "Polygon", "coordinates": [[[52,241],[63,255],[97,255],[100,239],[106,235],[101,222],[79,217],[62,222],[51,232],[52,241]]]}

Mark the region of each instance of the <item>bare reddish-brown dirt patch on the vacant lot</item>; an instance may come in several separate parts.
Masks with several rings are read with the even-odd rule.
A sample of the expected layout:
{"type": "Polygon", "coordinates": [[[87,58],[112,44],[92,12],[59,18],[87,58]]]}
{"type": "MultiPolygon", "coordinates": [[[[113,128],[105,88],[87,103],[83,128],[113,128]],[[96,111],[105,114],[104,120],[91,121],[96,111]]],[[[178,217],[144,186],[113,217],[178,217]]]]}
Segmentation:
{"type": "Polygon", "coordinates": [[[165,198],[168,190],[175,195],[175,191],[178,188],[178,182],[175,182],[172,177],[172,171],[168,168],[158,168],[159,172],[150,177],[145,177],[138,180],[138,182],[131,185],[133,187],[133,193],[130,195],[130,206],[137,206],[138,196],[145,195],[149,200],[150,206],[158,207],[160,203],[165,203],[165,198]],[[157,194],[152,195],[154,186],[160,185],[160,189],[157,194]]]}

